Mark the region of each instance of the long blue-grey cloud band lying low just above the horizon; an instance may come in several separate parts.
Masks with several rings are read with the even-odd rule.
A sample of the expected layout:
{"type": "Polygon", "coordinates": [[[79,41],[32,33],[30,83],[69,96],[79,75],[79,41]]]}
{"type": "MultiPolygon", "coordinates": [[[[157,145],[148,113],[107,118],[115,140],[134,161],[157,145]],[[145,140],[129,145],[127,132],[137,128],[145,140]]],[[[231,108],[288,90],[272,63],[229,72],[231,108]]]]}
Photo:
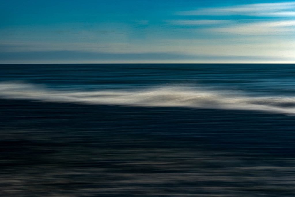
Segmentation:
{"type": "MultiPolygon", "coordinates": [[[[280,61],[281,57],[268,57],[280,61]]],[[[219,61],[252,60],[263,61],[265,56],[237,56],[237,55],[189,55],[183,53],[94,53],[85,51],[32,51],[32,52],[0,52],[0,63],[23,62],[50,62],[60,63],[67,60],[73,61],[208,61],[209,59],[219,61]]]]}

